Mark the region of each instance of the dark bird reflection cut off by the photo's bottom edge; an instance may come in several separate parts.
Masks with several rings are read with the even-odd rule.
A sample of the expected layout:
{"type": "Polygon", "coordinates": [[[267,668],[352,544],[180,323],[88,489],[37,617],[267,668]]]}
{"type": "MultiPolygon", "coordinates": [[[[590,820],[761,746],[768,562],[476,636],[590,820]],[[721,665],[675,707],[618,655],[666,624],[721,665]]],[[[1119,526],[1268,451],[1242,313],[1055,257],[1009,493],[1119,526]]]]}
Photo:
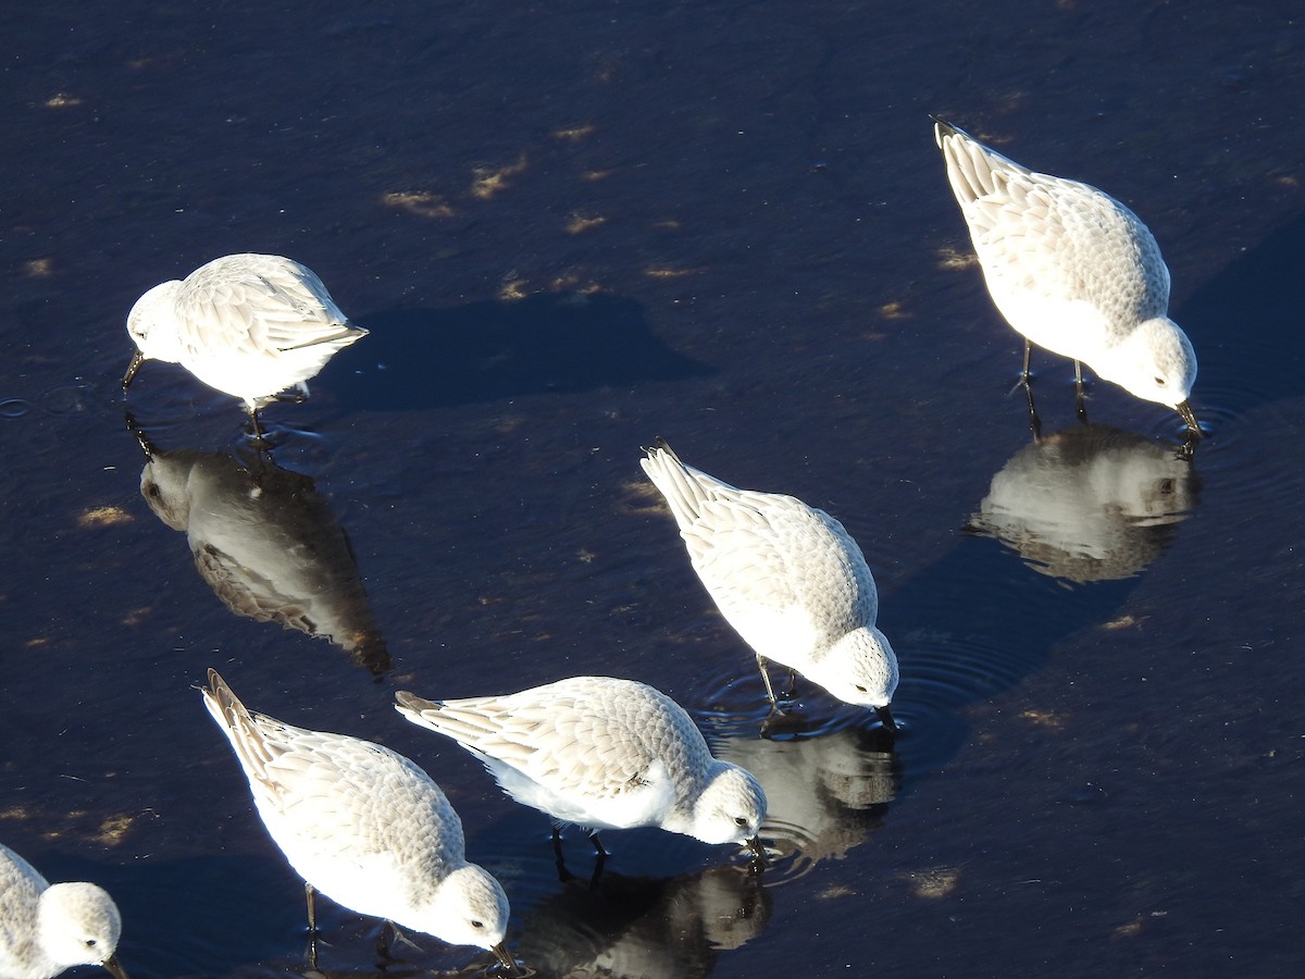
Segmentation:
{"type": "Polygon", "coordinates": [[[720,952],[770,920],[762,880],[736,864],[679,877],[607,871],[592,886],[573,878],[526,916],[517,954],[542,976],[709,975],[720,952]]]}

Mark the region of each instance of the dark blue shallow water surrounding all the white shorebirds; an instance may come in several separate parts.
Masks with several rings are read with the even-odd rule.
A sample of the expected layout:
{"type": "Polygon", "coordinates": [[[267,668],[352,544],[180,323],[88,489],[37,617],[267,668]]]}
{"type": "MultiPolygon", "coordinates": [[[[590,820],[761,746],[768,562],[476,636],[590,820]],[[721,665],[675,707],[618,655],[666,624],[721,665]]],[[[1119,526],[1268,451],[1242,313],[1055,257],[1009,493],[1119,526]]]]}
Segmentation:
{"type": "MultiPolygon", "coordinates": [[[[0,839],[111,890],[136,979],[303,971],[210,666],[424,765],[544,975],[1300,972],[1291,4],[85,8],[0,13],[0,839]],[[1030,448],[929,112],[1148,222],[1201,359],[1190,462],[1109,384],[1084,435],[1051,358],[1030,448]],[[176,368],[129,405],[159,453],[283,487],[269,535],[345,535],[304,576],[351,641],[232,615],[141,495],[127,311],[240,251],[372,330],[269,410],[283,471],[176,368]],[[801,683],[757,736],[752,654],[638,467],[658,435],[857,538],[895,751],[801,683]],[[390,709],[576,674],[655,684],[757,773],[761,881],[636,831],[564,885],[547,820],[390,709]]],[[[375,972],[378,923],[322,920],[326,974],[375,972]]],[[[415,937],[386,975],[488,962],[415,937]]]]}

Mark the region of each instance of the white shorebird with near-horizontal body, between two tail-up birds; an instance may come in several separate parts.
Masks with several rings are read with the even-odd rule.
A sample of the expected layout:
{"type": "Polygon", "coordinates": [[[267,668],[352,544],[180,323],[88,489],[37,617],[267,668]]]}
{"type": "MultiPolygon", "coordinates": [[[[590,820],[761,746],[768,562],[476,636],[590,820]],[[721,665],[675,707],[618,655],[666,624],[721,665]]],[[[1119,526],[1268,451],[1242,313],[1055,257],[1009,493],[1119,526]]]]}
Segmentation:
{"type": "Polygon", "coordinates": [[[684,707],[646,684],[573,676],[501,697],[428,701],[399,691],[395,710],[455,740],[523,805],[590,831],[659,826],[705,843],[746,843],[766,796],[746,769],[713,757],[684,707]]]}

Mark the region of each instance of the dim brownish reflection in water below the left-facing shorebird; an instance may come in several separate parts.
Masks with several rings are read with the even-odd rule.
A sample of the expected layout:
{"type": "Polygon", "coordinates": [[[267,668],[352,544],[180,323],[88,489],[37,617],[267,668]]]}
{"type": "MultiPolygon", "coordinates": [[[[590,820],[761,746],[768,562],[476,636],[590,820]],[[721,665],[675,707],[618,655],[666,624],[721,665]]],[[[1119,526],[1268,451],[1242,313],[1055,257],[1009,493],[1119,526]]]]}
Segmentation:
{"type": "Polygon", "coordinates": [[[313,480],[258,452],[145,449],[141,496],[185,531],[200,577],[235,615],[329,640],[380,676],[390,654],[372,617],[354,548],[313,480]]]}

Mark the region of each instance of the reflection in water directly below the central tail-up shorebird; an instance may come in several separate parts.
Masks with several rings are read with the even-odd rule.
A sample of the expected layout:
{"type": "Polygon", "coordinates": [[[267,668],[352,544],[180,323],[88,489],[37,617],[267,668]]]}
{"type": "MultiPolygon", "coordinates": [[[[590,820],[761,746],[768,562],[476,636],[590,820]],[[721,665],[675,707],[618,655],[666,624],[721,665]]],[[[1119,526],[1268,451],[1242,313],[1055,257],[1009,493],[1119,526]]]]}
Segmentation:
{"type": "Polygon", "coordinates": [[[893,747],[882,727],[813,727],[799,711],[771,724],[766,738],[713,744],[716,757],[745,766],[766,792],[762,838],[776,864],[771,878],[800,876],[865,842],[900,783],[893,747]]]}

